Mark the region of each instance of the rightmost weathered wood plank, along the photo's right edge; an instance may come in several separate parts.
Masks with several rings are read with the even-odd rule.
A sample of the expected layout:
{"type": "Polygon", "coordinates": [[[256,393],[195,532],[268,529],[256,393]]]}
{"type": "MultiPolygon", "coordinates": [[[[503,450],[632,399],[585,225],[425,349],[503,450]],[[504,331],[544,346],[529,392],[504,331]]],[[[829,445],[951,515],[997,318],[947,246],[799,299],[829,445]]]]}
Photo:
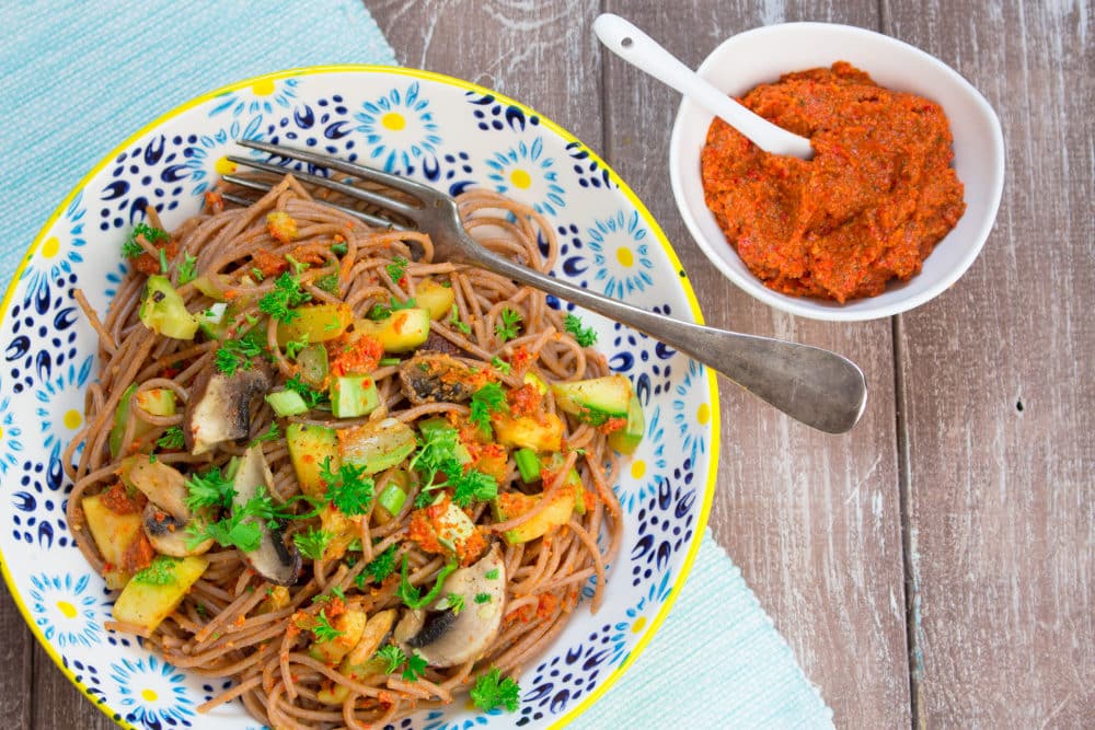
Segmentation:
{"type": "Polygon", "coordinates": [[[1091,5],[887,3],[887,31],[1001,115],[1007,181],[972,269],[899,327],[917,720],[1095,721],[1091,5]]]}

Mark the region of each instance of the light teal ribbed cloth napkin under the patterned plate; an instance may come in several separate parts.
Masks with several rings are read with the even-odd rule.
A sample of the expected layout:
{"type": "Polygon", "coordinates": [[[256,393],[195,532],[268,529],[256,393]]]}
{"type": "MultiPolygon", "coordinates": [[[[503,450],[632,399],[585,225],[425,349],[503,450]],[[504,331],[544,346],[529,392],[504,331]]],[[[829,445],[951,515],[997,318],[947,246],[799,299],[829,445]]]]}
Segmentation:
{"type": "MultiPolygon", "coordinates": [[[[360,0],[5,2],[0,27],[8,36],[0,175],[16,204],[5,211],[3,288],[57,202],[119,139],[160,114],[269,71],[396,62],[360,0]]],[[[621,723],[814,728],[831,727],[832,711],[705,534],[660,630],[572,727],[621,723]]]]}

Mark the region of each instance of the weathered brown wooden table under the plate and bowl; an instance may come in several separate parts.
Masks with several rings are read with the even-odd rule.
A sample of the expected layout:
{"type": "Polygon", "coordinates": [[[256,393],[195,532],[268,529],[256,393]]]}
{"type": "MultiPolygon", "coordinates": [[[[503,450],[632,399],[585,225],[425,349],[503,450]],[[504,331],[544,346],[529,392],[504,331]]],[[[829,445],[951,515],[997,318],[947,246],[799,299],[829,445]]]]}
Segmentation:
{"type": "MultiPolygon", "coordinates": [[[[729,383],[721,393],[712,528],[839,726],[1095,725],[1090,2],[368,5],[402,63],[522,100],[599,150],[675,242],[711,324],[830,348],[867,374],[867,412],[842,437],[729,383]],[[930,304],[863,324],[795,318],[738,291],[672,201],[679,100],[599,47],[601,10],[693,67],[738,31],[799,20],[878,30],[942,58],[1004,127],[1004,199],[980,258],[930,304]]],[[[0,637],[11,727],[111,727],[9,599],[0,637]]]]}

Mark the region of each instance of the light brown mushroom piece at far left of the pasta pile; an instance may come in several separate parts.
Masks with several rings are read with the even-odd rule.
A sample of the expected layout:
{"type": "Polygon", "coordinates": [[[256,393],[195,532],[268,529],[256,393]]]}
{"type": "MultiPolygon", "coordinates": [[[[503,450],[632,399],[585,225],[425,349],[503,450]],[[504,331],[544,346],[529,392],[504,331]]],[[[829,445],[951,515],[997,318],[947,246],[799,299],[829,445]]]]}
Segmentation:
{"type": "Polygon", "coordinates": [[[174,557],[201,555],[212,547],[211,538],[189,545],[187,532],[194,515],[186,506],[186,477],[163,462],[140,459],[129,467],[129,482],[148,497],[141,525],[157,553],[174,557]]]}

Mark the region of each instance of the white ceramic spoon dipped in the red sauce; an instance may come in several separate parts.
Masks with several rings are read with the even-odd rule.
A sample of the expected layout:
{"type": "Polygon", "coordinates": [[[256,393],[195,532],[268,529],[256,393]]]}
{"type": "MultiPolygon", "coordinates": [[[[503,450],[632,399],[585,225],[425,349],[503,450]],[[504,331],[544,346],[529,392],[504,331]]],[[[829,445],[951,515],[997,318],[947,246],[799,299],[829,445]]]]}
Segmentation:
{"type": "Polygon", "coordinates": [[[593,33],[616,56],[721,117],[765,152],[803,160],[814,157],[810,140],[753,114],[619,15],[599,15],[593,21],[593,33]]]}

